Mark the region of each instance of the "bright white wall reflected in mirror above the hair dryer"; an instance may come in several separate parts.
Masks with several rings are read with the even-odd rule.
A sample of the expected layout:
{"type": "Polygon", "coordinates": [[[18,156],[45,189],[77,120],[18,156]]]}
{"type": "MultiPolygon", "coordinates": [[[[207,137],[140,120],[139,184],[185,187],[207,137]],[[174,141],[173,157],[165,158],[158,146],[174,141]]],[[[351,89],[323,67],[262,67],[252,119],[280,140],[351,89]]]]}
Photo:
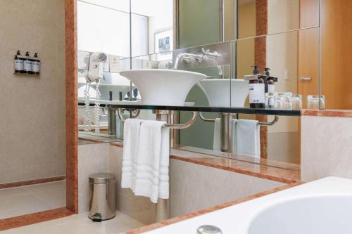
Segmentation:
{"type": "MultiPolygon", "coordinates": [[[[119,0],[120,1],[120,0],[119,0]]],[[[130,6],[125,1],[93,1],[94,4],[77,1],[77,35],[79,51],[103,51],[104,53],[130,57],[130,6]],[[122,9],[122,11],[120,11],[122,9]]],[[[132,15],[132,55],[147,53],[148,19],[132,15]]]]}

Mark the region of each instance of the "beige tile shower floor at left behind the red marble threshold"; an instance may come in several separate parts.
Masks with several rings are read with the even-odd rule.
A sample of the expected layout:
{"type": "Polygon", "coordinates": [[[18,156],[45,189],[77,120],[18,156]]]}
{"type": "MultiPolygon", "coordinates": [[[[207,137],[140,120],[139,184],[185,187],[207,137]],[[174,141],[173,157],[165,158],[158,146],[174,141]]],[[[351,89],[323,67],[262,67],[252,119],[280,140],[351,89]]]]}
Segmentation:
{"type": "Polygon", "coordinates": [[[66,182],[0,190],[0,219],[66,206],[66,182]]]}

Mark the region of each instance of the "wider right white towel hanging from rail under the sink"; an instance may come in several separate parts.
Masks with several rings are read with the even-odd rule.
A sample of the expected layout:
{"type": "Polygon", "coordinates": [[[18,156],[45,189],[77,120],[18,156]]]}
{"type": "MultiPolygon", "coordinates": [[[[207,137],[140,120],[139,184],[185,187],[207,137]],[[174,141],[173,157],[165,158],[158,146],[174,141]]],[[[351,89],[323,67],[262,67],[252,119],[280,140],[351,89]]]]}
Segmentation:
{"type": "MultiPolygon", "coordinates": [[[[134,195],[149,197],[154,203],[158,202],[158,197],[169,198],[169,129],[163,128],[163,124],[165,122],[144,120],[140,125],[132,167],[128,161],[122,162],[122,182],[125,182],[122,188],[131,188],[134,195]]],[[[125,128],[129,126],[125,125],[125,128]]],[[[128,160],[128,155],[126,157],[128,160]]]]}

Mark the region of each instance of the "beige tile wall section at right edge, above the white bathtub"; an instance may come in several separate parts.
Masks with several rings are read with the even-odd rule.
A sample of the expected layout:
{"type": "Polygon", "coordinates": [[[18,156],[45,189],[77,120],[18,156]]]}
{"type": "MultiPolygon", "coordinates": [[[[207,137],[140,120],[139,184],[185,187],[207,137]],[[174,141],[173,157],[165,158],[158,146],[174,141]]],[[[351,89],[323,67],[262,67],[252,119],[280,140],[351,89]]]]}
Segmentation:
{"type": "Polygon", "coordinates": [[[303,181],[325,176],[352,178],[352,118],[302,116],[303,181]]]}

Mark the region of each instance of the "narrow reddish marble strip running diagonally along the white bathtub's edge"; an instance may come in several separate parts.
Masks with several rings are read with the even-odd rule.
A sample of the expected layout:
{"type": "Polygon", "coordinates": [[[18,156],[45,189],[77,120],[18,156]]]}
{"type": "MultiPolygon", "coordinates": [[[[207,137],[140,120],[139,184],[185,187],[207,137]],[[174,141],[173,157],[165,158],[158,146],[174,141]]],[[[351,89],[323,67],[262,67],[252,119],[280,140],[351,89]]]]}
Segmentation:
{"type": "Polygon", "coordinates": [[[210,212],[215,212],[217,211],[218,209],[223,209],[223,208],[226,208],[226,207],[231,207],[233,206],[234,204],[239,204],[239,203],[242,203],[242,202],[247,202],[249,200],[253,200],[253,199],[256,199],[258,197],[263,197],[265,195],[269,195],[269,194],[272,194],[272,193],[277,193],[279,191],[282,191],[282,190],[286,190],[288,188],[293,188],[295,186],[299,186],[303,184],[303,182],[295,182],[295,183],[290,183],[286,186],[281,186],[279,188],[274,188],[272,190],[268,190],[268,191],[265,191],[265,192],[262,192],[262,193],[257,193],[255,195],[251,195],[249,197],[243,197],[243,198],[240,198],[240,199],[237,199],[237,200],[234,200],[232,202],[227,202],[225,204],[219,204],[215,207],[210,207],[208,209],[203,209],[199,212],[194,212],[194,213],[191,213],[191,214],[184,214],[182,216],[177,216],[175,218],[172,218],[172,219],[168,219],[168,220],[165,220],[165,221],[161,221],[159,223],[153,223],[149,226],[144,226],[142,228],[137,228],[137,229],[134,229],[134,230],[129,230],[127,232],[125,232],[125,234],[139,234],[139,233],[145,233],[149,230],[154,230],[154,229],[157,229],[157,228],[161,228],[163,226],[168,226],[172,223],[178,223],[180,221],[184,221],[186,219],[191,219],[193,217],[196,217],[196,216],[200,216],[202,214],[207,214],[207,213],[210,213],[210,212]]]}

